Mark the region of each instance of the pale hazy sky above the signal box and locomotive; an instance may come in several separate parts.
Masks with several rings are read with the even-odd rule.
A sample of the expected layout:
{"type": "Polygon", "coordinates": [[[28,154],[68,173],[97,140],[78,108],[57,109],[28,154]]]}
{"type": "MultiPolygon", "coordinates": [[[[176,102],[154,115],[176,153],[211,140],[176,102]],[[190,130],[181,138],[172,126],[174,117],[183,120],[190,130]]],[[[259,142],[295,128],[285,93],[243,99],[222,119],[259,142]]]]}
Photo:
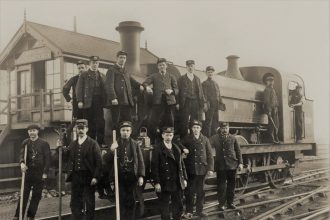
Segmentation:
{"type": "Polygon", "coordinates": [[[141,46],[175,64],[196,68],[270,66],[303,77],[314,100],[315,136],[329,143],[329,1],[4,1],[0,0],[0,51],[27,20],[119,41],[115,27],[141,22],[141,46]]]}

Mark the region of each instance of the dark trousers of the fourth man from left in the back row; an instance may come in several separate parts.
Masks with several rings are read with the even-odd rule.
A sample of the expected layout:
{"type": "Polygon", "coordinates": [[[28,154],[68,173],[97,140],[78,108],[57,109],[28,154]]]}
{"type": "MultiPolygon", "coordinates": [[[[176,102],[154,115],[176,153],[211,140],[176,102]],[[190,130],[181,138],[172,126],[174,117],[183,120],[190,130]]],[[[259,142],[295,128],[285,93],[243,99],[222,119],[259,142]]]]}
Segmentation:
{"type": "Polygon", "coordinates": [[[166,103],[166,97],[163,96],[160,105],[153,105],[151,115],[148,122],[148,130],[150,137],[156,136],[157,128],[162,129],[164,126],[174,127],[174,105],[166,103]]]}

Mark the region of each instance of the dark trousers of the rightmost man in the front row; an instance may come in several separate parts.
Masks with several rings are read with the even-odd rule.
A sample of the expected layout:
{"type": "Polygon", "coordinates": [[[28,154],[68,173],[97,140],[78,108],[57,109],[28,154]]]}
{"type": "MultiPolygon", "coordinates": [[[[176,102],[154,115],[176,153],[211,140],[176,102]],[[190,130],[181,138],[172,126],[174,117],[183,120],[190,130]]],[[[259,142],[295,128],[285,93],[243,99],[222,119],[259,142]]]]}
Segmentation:
{"type": "Polygon", "coordinates": [[[218,170],[217,187],[220,206],[234,202],[236,170],[218,170]]]}

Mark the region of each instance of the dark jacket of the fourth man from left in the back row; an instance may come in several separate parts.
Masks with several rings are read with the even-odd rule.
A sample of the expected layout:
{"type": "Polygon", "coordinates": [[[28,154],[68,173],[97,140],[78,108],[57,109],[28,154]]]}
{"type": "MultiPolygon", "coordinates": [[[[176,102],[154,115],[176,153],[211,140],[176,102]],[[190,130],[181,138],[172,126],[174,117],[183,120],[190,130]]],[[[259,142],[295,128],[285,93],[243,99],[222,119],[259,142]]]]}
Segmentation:
{"type": "Polygon", "coordinates": [[[153,85],[152,104],[159,105],[162,102],[162,95],[166,94],[166,89],[172,89],[173,93],[166,94],[166,101],[168,105],[175,105],[175,96],[178,94],[178,84],[175,77],[166,72],[165,76],[162,76],[159,72],[151,74],[144,82],[143,86],[153,85]]]}

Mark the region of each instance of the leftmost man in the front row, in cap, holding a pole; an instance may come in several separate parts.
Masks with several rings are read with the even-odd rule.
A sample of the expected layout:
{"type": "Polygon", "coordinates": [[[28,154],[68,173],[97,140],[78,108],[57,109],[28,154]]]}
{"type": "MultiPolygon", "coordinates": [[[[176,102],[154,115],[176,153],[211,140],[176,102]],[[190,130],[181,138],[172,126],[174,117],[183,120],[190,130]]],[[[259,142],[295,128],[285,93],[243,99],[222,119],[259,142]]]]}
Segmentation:
{"type": "MultiPolygon", "coordinates": [[[[29,138],[22,142],[20,152],[21,171],[26,173],[22,216],[24,218],[27,201],[29,199],[30,191],[32,191],[32,198],[27,211],[27,218],[29,220],[33,220],[38,210],[44,180],[47,178],[49,165],[51,163],[51,157],[49,144],[45,140],[39,138],[40,127],[36,124],[32,124],[27,127],[27,130],[29,138]],[[24,161],[25,146],[27,149],[26,161],[24,161]]],[[[18,219],[19,211],[20,202],[17,204],[14,219],[18,219]]]]}

